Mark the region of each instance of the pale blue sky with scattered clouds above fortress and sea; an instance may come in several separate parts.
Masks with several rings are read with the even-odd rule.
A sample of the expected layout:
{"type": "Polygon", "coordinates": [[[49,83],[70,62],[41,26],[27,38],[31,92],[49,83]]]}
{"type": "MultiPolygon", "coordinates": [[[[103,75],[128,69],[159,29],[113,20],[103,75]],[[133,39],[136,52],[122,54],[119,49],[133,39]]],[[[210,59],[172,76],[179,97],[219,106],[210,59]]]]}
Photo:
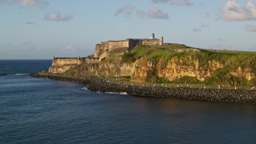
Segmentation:
{"type": "Polygon", "coordinates": [[[255,0],[0,0],[0,59],[85,57],[99,42],[256,51],[255,0]]]}

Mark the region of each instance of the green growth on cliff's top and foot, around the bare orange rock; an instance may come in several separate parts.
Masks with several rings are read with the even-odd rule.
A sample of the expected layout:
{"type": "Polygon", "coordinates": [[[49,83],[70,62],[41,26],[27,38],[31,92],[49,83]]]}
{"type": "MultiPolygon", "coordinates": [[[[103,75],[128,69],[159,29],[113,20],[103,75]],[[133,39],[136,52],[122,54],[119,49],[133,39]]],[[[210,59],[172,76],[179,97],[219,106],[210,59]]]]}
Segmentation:
{"type": "MultiPolygon", "coordinates": [[[[177,79],[175,83],[190,84],[208,84],[208,85],[230,85],[230,86],[246,86],[256,84],[255,80],[247,82],[246,78],[234,77],[230,71],[242,70],[250,68],[256,73],[256,52],[246,51],[230,51],[230,50],[204,50],[192,51],[194,48],[183,45],[166,45],[166,46],[136,46],[129,54],[124,54],[122,59],[124,62],[134,62],[138,58],[142,58],[141,62],[146,62],[151,58],[155,60],[162,59],[162,68],[166,67],[167,62],[171,58],[175,58],[182,66],[191,66],[194,60],[198,60],[199,66],[207,69],[209,61],[217,61],[224,66],[215,70],[213,77],[206,78],[205,82],[199,82],[196,78],[184,77],[177,79]],[[184,50],[184,51],[178,51],[184,50]],[[190,51],[189,51],[190,50],[190,51]]],[[[166,82],[166,79],[157,78],[152,75],[149,80],[151,82],[166,82]]]]}

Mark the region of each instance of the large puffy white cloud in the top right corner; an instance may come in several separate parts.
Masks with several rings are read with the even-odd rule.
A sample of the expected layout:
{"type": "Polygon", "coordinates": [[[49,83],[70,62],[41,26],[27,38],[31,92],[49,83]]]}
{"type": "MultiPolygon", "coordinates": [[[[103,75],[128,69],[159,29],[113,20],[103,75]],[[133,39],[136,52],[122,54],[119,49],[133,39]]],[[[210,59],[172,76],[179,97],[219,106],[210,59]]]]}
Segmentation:
{"type": "Polygon", "coordinates": [[[249,0],[246,6],[240,6],[235,0],[228,0],[220,9],[220,18],[224,21],[246,21],[256,19],[256,5],[249,0]]]}

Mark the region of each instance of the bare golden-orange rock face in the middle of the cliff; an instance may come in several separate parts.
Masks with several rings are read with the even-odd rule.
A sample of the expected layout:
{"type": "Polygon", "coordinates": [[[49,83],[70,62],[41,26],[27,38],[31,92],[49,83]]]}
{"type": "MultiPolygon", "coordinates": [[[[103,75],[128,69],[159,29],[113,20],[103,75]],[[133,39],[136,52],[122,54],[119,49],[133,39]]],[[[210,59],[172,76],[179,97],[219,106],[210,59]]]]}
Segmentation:
{"type": "Polygon", "coordinates": [[[209,61],[207,68],[200,67],[198,60],[177,62],[176,58],[172,58],[162,67],[162,60],[155,61],[150,59],[144,62],[134,71],[134,79],[136,81],[145,81],[148,71],[153,70],[154,74],[160,78],[166,78],[170,81],[183,78],[184,76],[197,78],[199,81],[205,81],[206,77],[212,76],[214,70],[222,68],[222,64],[215,61],[209,61]]]}

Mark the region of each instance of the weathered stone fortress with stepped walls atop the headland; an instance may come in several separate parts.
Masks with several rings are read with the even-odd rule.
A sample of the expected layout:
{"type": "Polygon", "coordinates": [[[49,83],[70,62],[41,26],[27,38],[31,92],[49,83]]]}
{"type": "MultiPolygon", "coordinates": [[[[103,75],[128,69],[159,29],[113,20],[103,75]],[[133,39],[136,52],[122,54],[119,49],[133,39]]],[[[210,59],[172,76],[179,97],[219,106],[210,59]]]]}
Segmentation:
{"type": "MultiPolygon", "coordinates": [[[[165,43],[166,45],[170,43],[165,43]]],[[[49,68],[50,73],[63,73],[69,70],[70,67],[78,66],[82,64],[95,64],[107,58],[111,51],[120,51],[122,55],[127,50],[132,50],[138,45],[151,45],[151,46],[162,46],[163,37],[155,38],[152,34],[151,38],[127,38],[121,41],[107,41],[96,44],[94,54],[84,58],[55,58],[53,59],[52,66],[49,68]]]]}

